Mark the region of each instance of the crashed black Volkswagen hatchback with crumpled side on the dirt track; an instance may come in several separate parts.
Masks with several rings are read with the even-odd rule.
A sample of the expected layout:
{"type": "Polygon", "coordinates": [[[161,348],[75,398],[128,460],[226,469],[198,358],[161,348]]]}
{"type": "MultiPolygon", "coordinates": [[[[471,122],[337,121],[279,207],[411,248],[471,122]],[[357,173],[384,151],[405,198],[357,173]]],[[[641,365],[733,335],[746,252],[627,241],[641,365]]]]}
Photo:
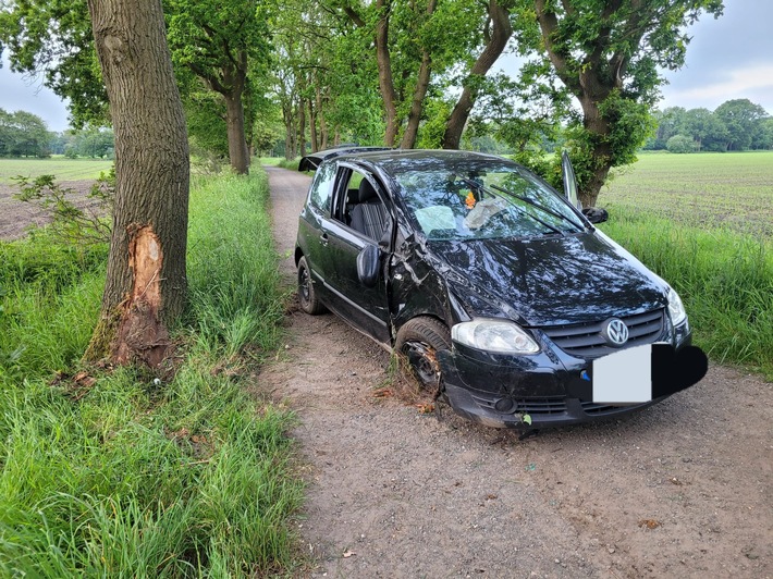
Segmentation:
{"type": "Polygon", "coordinates": [[[304,158],[310,168],[295,249],[302,308],[329,308],[404,355],[456,412],[561,426],[684,387],[652,378],[647,395],[626,395],[657,373],[653,345],[674,368],[690,344],[687,315],[593,226],[604,211],[578,209],[567,163],[568,198],[517,163],[468,151],[334,149],[304,158]]]}

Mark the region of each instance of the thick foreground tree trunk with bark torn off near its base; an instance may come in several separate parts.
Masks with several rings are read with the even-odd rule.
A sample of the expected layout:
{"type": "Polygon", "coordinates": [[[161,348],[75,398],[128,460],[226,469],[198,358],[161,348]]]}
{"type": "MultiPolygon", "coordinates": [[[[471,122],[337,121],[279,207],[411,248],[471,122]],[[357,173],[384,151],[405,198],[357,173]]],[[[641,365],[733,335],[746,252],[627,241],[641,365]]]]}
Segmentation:
{"type": "Polygon", "coordinates": [[[188,146],[159,0],[88,0],[115,135],[115,205],[86,358],[157,367],[187,281],[188,146]]]}

